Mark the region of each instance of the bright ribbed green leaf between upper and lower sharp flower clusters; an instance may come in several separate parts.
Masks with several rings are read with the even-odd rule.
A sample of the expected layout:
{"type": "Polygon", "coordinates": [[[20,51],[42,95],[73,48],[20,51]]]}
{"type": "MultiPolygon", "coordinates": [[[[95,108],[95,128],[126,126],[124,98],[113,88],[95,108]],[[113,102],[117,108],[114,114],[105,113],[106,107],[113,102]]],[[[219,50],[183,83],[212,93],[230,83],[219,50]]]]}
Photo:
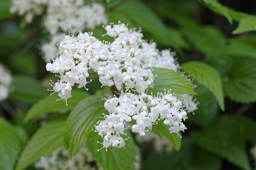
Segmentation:
{"type": "Polygon", "coordinates": [[[164,89],[171,89],[171,92],[176,94],[196,94],[191,81],[174,70],[153,67],[153,74],[157,76],[154,79],[154,88],[148,88],[149,93],[164,93],[164,89]]]}

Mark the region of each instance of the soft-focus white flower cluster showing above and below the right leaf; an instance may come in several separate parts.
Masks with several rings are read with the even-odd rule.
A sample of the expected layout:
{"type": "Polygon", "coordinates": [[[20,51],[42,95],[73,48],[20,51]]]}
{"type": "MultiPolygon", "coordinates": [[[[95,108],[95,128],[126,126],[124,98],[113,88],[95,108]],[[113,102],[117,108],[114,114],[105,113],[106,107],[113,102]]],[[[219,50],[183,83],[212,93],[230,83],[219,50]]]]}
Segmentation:
{"type": "MultiPolygon", "coordinates": [[[[155,42],[143,42],[142,48],[144,51],[144,67],[161,67],[174,70],[175,72],[180,72],[179,64],[174,58],[175,52],[171,52],[170,50],[162,50],[159,52],[159,50],[156,49],[155,42]]],[[[183,75],[183,73],[181,73],[181,75],[183,75]]],[[[183,76],[186,77],[186,75],[183,76]]],[[[178,95],[177,98],[184,101],[185,107],[187,108],[187,113],[194,113],[194,110],[197,109],[198,102],[193,100],[192,95],[178,95]]]]}

